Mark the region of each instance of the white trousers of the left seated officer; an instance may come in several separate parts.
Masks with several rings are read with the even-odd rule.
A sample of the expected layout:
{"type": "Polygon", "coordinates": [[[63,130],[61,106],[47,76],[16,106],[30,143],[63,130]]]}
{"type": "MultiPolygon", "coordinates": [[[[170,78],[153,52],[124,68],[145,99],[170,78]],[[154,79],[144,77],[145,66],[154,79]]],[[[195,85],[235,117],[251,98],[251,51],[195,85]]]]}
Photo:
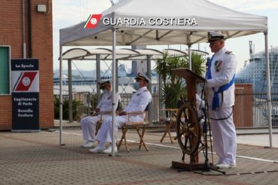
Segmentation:
{"type": "MultiPolygon", "coordinates": [[[[104,120],[105,118],[109,118],[111,115],[109,114],[104,114],[102,115],[102,119],[104,120]]],[[[97,125],[97,121],[100,120],[100,115],[99,116],[86,116],[81,119],[81,128],[83,132],[83,140],[84,141],[95,141],[95,128],[97,125]]]]}

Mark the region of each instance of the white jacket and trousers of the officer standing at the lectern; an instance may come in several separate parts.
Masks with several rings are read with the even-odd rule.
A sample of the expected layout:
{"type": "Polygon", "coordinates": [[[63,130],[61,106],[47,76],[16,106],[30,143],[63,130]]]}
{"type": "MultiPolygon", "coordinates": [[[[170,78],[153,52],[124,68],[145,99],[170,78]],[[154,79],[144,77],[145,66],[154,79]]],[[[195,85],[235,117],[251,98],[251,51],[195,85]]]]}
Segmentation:
{"type": "Polygon", "coordinates": [[[206,84],[213,142],[215,152],[220,158],[218,164],[228,164],[230,166],[236,166],[236,129],[232,114],[235,101],[235,85],[231,85],[229,89],[219,94],[220,107],[215,111],[212,110],[214,94],[212,87],[215,91],[218,91],[220,86],[228,84],[236,73],[236,65],[235,55],[223,47],[213,57],[211,62],[212,78],[208,79],[206,84]]]}

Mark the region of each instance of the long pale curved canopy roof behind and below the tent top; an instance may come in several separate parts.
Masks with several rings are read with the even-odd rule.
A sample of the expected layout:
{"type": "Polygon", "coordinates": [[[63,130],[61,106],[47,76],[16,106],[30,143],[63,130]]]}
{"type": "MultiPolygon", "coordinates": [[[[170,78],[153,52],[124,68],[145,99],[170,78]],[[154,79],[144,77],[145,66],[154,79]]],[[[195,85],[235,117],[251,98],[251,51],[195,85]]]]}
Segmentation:
{"type": "MultiPolygon", "coordinates": [[[[208,53],[199,50],[191,50],[198,55],[208,55],[208,53]]],[[[116,58],[120,60],[145,60],[147,55],[152,55],[152,59],[156,60],[163,57],[163,53],[167,55],[188,55],[188,51],[177,49],[117,49],[115,51],[116,58]]],[[[101,60],[112,60],[113,51],[110,49],[69,49],[63,53],[63,60],[96,60],[97,55],[100,55],[101,60]]]]}

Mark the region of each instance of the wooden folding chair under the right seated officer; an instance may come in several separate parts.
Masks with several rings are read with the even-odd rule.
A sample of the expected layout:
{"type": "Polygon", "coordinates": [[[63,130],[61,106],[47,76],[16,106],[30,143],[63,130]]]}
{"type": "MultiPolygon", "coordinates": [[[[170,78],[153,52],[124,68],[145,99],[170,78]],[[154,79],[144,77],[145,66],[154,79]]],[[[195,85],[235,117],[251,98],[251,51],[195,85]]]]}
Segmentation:
{"type": "Polygon", "coordinates": [[[145,109],[145,112],[127,112],[126,113],[127,117],[128,117],[128,121],[122,127],[122,137],[121,137],[119,143],[117,144],[117,149],[118,150],[120,150],[120,147],[122,145],[122,141],[124,141],[124,145],[126,146],[126,151],[127,152],[129,152],[129,145],[137,145],[137,146],[139,146],[139,150],[141,149],[141,146],[144,146],[145,149],[147,151],[149,151],[149,149],[147,148],[147,146],[144,142],[145,129],[146,129],[146,126],[149,125],[148,109],[149,109],[149,105],[147,105],[147,107],[145,109]],[[131,116],[140,115],[140,114],[145,115],[145,118],[144,118],[143,121],[131,121],[131,116]],[[138,133],[138,136],[139,136],[139,139],[140,139],[140,141],[138,143],[128,143],[126,141],[126,132],[129,129],[136,129],[136,132],[138,133]]]}

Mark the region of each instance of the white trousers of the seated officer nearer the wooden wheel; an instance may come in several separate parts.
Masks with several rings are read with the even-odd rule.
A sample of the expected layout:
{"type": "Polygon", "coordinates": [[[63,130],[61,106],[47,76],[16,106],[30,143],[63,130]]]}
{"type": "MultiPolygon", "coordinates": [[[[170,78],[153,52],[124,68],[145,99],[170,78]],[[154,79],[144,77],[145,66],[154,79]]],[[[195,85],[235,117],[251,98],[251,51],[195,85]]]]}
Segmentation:
{"type": "MultiPolygon", "coordinates": [[[[127,116],[115,116],[114,136],[117,141],[117,130],[124,126],[127,121],[127,116]]],[[[105,118],[99,132],[97,132],[97,140],[99,146],[103,147],[106,142],[112,142],[112,117],[105,118]]]]}

